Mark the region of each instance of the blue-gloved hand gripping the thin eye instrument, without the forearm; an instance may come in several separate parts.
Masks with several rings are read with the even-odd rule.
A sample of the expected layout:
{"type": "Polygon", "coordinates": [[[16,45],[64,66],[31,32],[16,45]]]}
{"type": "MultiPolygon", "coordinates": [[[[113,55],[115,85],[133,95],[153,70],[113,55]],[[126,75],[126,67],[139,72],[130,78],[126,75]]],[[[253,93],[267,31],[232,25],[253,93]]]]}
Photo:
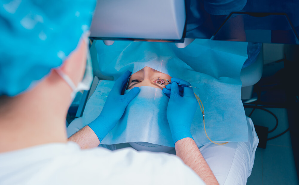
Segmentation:
{"type": "Polygon", "coordinates": [[[167,120],[172,133],[173,142],[190,137],[193,139],[190,129],[196,112],[198,102],[192,87],[183,87],[183,95],[179,93],[179,84],[191,85],[185,80],[171,78],[172,84],[163,89],[165,94],[170,94],[167,106],[167,120]],[[171,88],[171,90],[169,90],[171,88]]]}

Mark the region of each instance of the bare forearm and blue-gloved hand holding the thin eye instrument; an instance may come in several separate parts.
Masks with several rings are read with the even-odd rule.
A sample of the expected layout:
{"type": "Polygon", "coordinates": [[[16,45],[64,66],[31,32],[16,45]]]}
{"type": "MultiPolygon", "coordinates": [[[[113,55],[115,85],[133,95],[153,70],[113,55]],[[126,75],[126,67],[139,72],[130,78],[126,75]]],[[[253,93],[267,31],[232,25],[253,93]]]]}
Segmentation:
{"type": "Polygon", "coordinates": [[[178,84],[191,84],[178,78],[172,78],[171,82],[172,84],[167,85],[163,92],[170,94],[166,113],[176,155],[192,168],[206,184],[218,184],[191,135],[191,123],[198,106],[193,89],[184,87],[183,94],[179,92],[178,84]]]}

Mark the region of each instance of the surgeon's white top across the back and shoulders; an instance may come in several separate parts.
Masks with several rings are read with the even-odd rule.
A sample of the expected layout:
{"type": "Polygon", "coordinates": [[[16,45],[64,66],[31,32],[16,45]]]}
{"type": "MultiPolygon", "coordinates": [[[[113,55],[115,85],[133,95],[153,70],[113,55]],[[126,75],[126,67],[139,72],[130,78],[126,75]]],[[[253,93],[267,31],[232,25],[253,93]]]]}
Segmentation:
{"type": "Polygon", "coordinates": [[[0,153],[0,184],[205,184],[166,153],[81,150],[73,142],[0,153]]]}

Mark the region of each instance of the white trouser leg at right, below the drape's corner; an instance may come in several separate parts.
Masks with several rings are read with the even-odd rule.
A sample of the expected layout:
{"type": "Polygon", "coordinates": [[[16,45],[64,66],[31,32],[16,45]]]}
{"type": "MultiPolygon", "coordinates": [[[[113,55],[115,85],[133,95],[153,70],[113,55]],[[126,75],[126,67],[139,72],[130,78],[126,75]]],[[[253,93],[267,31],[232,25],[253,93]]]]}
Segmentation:
{"type": "Polygon", "coordinates": [[[247,117],[248,141],[224,145],[206,144],[199,148],[219,184],[246,184],[254,163],[259,139],[252,120],[247,117]]]}

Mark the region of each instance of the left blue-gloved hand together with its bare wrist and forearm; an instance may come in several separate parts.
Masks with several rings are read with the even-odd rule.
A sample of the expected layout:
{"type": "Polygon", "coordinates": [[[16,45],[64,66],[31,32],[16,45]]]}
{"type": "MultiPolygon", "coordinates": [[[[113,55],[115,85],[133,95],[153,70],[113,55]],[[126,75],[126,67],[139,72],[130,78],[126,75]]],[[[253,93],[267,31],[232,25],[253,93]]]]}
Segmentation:
{"type": "Polygon", "coordinates": [[[76,142],[81,148],[97,147],[104,137],[115,127],[129,102],[139,93],[139,88],[132,88],[127,94],[121,95],[126,87],[130,71],[126,71],[113,85],[101,114],[88,126],[85,126],[73,136],[70,141],[76,142]]]}

